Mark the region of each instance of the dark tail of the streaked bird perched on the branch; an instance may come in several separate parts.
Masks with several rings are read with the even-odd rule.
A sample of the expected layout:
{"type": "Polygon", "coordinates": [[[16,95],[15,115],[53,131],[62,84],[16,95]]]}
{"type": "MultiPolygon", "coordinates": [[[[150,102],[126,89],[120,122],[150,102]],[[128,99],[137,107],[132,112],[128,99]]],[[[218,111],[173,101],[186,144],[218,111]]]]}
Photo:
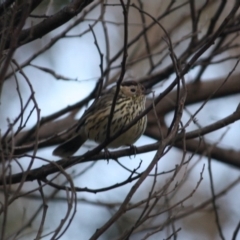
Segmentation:
{"type": "Polygon", "coordinates": [[[86,138],[78,134],[55,148],[53,155],[59,157],[70,157],[83,145],[85,141],[86,138]]]}

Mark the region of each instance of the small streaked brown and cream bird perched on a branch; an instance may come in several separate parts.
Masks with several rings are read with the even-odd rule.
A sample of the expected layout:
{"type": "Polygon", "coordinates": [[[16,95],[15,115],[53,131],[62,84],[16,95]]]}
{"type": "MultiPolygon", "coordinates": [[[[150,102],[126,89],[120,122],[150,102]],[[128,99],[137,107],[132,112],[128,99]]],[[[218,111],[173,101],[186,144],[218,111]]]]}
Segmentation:
{"type": "MultiPolygon", "coordinates": [[[[72,156],[88,139],[102,143],[106,139],[109,116],[116,94],[117,85],[102,94],[80,118],[76,134],[60,144],[53,151],[59,157],[72,156]]],[[[137,81],[125,81],[120,84],[119,92],[110,125],[110,137],[121,132],[145,110],[147,91],[137,81]]],[[[147,125],[147,116],[140,118],[131,128],[121,133],[111,141],[108,148],[132,146],[144,133],[147,125]]]]}

